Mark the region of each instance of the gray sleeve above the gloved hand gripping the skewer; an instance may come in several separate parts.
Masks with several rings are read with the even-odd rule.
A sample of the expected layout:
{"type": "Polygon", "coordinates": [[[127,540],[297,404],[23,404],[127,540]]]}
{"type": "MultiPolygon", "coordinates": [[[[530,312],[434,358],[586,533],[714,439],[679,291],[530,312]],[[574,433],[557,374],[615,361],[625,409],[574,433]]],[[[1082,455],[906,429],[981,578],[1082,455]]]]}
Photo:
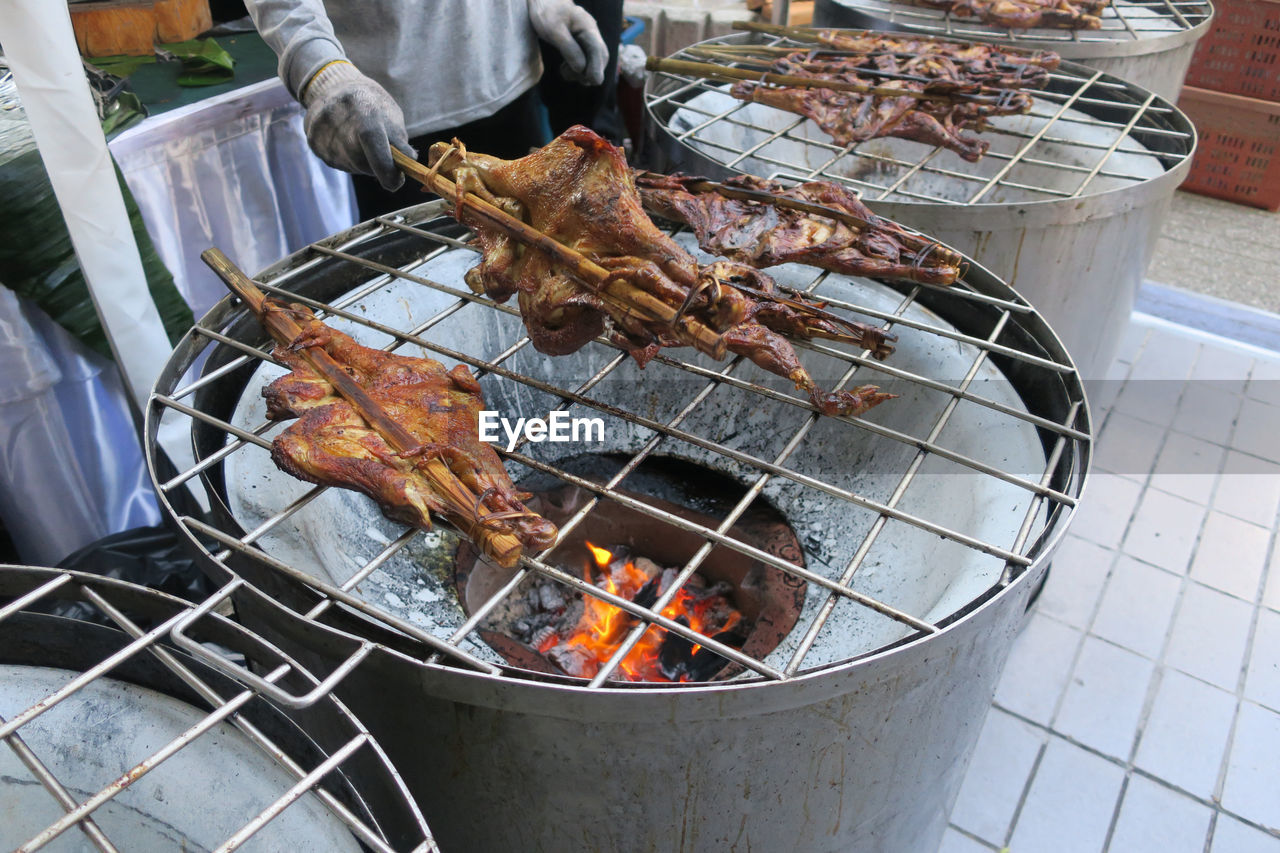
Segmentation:
{"type": "Polygon", "coordinates": [[[280,58],[280,79],[293,97],[325,63],[346,59],[321,0],[244,0],[244,6],[280,58]]]}

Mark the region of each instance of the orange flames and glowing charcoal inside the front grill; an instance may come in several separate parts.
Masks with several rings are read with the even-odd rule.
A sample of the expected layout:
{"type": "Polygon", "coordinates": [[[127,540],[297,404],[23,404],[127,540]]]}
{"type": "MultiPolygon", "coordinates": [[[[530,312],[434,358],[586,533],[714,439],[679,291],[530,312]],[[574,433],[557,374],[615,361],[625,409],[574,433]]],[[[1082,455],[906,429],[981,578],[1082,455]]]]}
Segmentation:
{"type": "MultiPolygon", "coordinates": [[[[613,552],[590,542],[586,548],[591,555],[584,565],[586,581],[640,605],[653,605],[677,574],[649,561],[616,558],[613,552]]],[[[735,629],[742,615],[728,602],[726,592],[719,585],[698,588],[691,579],[660,612],[699,634],[741,646],[744,638],[735,629]]],[[[582,605],[582,615],[573,629],[564,635],[545,637],[538,651],[570,675],[591,678],[613,657],[639,620],[593,596],[584,596],[582,605]]],[[[628,681],[692,681],[709,678],[699,678],[698,672],[709,669],[714,674],[723,663],[719,654],[652,625],[618,665],[617,672],[628,681]]]]}

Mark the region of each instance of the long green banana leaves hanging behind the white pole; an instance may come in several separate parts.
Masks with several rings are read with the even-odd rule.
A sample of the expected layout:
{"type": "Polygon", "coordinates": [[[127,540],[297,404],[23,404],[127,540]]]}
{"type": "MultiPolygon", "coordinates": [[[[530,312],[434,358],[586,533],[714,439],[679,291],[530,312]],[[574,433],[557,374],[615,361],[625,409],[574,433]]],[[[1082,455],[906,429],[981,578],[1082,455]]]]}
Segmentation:
{"type": "MultiPolygon", "coordinates": [[[[35,301],[59,325],[110,359],[106,333],[93,310],[44,161],[20,119],[22,111],[12,114],[0,122],[0,286],[35,301]]],[[[142,255],[147,288],[170,343],[177,343],[193,323],[191,309],[156,255],[119,168],[115,177],[142,255]]]]}

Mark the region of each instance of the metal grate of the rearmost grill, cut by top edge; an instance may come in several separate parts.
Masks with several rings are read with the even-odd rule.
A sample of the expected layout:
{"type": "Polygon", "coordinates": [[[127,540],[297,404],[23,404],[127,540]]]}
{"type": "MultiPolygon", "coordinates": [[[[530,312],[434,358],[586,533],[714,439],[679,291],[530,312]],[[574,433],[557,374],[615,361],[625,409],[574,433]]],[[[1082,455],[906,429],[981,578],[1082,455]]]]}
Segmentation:
{"type": "Polygon", "coordinates": [[[1015,46],[1051,49],[1165,38],[1194,29],[1213,14],[1213,8],[1204,0],[1112,0],[1102,10],[1102,26],[1098,29],[1011,29],[952,15],[943,9],[896,0],[845,0],[841,5],[883,20],[890,29],[910,29],[948,38],[1000,40],[1015,46]]]}

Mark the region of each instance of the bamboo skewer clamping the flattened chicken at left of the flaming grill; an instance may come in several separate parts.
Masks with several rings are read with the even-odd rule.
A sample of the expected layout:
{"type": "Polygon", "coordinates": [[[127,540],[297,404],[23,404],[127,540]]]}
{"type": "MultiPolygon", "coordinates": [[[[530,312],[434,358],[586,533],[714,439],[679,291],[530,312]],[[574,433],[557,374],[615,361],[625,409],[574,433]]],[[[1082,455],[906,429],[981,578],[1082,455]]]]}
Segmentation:
{"type": "MultiPolygon", "coordinates": [[[[241,272],[227,255],[218,248],[207,248],[201,252],[200,257],[209,264],[210,269],[223,279],[233,293],[244,300],[276,343],[287,347],[298,341],[303,332],[302,328],[288,313],[273,310],[268,305],[266,295],[259,289],[253,279],[241,272]]],[[[444,514],[451,524],[493,557],[498,565],[507,569],[516,565],[524,548],[520,539],[515,534],[497,530],[485,524],[485,517],[494,514],[490,514],[476,501],[471,489],[458,480],[444,461],[439,457],[424,459],[420,452],[421,442],[396,423],[378,401],[370,397],[369,392],[361,388],[321,346],[305,346],[301,352],[307,364],[355,407],[365,423],[378,432],[399,456],[411,460],[413,467],[431,483],[436,494],[451,510],[444,514]]]]}

